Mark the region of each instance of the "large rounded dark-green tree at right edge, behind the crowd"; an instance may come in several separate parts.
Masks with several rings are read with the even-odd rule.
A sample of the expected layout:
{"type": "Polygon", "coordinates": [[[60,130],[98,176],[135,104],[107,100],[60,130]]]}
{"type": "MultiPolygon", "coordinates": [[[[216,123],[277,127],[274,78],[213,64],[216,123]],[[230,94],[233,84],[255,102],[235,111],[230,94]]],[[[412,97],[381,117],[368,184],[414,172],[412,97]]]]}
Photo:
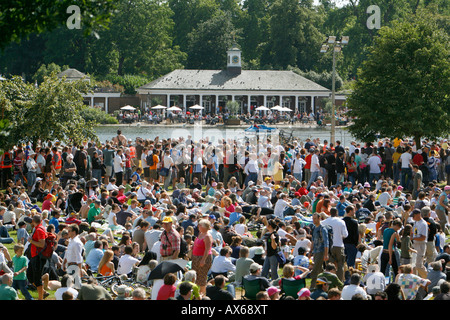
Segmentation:
{"type": "Polygon", "coordinates": [[[358,72],[348,99],[350,132],[376,136],[437,138],[450,126],[449,36],[429,14],[382,27],[358,72]]]}

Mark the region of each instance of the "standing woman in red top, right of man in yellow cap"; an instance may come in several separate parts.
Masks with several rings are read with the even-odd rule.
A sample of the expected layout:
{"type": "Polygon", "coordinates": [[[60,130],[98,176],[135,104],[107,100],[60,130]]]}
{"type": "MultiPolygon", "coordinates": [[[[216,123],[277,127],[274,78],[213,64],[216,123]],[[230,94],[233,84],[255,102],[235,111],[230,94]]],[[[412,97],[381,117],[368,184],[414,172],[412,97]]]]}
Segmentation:
{"type": "Polygon", "coordinates": [[[212,265],[211,248],[213,239],[209,230],[211,230],[209,220],[201,219],[198,222],[199,234],[192,248],[192,270],[197,272],[197,280],[195,283],[199,286],[200,293],[206,292],[208,271],[212,265]]]}

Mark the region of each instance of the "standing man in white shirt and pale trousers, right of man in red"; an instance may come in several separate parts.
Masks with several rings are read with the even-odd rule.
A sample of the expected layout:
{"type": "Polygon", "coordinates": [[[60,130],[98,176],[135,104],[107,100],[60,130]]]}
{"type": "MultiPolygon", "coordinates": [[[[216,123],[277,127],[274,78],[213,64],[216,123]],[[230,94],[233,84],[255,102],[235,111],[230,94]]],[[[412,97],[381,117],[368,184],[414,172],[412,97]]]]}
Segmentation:
{"type": "Polygon", "coordinates": [[[83,275],[83,242],[80,240],[80,229],[77,224],[71,224],[68,228],[69,244],[64,255],[62,269],[74,278],[74,288],[81,289],[81,277],[83,275]]]}

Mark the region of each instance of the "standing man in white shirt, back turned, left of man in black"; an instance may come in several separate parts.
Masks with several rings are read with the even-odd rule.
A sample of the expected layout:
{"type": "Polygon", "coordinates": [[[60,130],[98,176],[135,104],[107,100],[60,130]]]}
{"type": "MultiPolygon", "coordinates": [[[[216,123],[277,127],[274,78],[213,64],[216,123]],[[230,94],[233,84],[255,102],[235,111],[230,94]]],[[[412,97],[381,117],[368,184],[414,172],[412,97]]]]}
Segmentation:
{"type": "Polygon", "coordinates": [[[329,254],[329,262],[336,264],[336,275],[344,282],[345,247],[344,238],[348,237],[347,226],[339,216],[335,207],[330,209],[330,217],[322,222],[333,229],[333,247],[329,254]]]}

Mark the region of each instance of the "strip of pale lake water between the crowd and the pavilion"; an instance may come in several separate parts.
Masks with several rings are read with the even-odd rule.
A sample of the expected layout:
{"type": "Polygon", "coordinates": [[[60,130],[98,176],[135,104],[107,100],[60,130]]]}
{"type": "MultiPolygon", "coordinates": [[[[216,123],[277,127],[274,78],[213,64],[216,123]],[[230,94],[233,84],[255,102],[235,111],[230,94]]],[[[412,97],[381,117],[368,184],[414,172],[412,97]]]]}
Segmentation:
{"type": "MultiPolygon", "coordinates": [[[[223,126],[162,126],[162,125],[117,125],[117,126],[99,126],[95,130],[101,142],[111,140],[117,135],[117,130],[121,130],[122,134],[128,139],[133,141],[137,138],[175,138],[179,137],[187,138],[191,135],[194,141],[201,138],[208,138],[213,143],[219,139],[239,139],[243,138],[246,133],[247,127],[223,127],[223,126]]],[[[299,141],[305,141],[306,138],[320,138],[323,140],[330,140],[330,127],[318,128],[318,127],[305,127],[305,126],[282,126],[278,128],[284,131],[284,134],[289,136],[292,132],[293,137],[299,141]]],[[[276,135],[271,135],[272,141],[276,141],[276,135]]],[[[248,136],[248,134],[247,134],[248,136]]],[[[340,140],[344,146],[348,146],[351,140],[354,140],[353,136],[343,127],[336,128],[336,140],[340,140]]]]}

